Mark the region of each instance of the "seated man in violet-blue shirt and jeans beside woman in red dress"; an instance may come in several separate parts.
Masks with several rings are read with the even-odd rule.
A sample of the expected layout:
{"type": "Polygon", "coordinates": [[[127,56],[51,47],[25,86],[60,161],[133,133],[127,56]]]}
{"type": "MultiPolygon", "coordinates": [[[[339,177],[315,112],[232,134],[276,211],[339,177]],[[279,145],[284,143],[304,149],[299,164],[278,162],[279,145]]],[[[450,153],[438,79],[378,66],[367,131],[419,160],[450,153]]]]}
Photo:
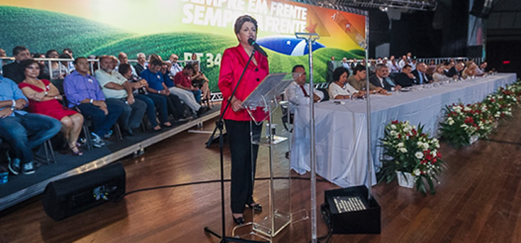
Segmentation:
{"type": "Polygon", "coordinates": [[[110,137],[110,128],[116,123],[123,110],[105,102],[105,95],[101,91],[96,78],[90,76],[87,58],[74,60],[72,74],[65,77],[63,90],[69,102],[69,108],[77,107],[84,116],[92,117],[93,132],[92,145],[101,147],[105,142],[101,137],[110,137]]]}

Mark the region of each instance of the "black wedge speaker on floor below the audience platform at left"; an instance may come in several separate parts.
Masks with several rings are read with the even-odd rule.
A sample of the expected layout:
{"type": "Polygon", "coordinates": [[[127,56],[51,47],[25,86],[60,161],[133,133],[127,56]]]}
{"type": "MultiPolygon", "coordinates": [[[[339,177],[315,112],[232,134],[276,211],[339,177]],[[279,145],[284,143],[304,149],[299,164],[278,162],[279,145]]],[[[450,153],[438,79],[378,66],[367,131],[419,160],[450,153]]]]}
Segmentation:
{"type": "Polygon", "coordinates": [[[45,212],[58,221],[125,194],[125,170],[117,162],[51,181],[41,196],[45,212]]]}

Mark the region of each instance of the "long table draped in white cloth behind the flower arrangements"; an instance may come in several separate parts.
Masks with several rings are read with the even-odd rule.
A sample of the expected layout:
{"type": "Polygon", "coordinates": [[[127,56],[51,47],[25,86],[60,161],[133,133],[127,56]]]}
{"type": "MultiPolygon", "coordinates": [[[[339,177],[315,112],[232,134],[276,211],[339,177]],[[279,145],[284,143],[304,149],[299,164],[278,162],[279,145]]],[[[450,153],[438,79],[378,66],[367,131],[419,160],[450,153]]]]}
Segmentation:
{"type": "MultiPolygon", "coordinates": [[[[371,95],[372,185],[377,183],[374,168],[380,167],[383,154],[383,149],[377,145],[389,121],[421,123],[424,131],[436,135],[446,105],[481,101],[515,79],[515,74],[497,74],[437,87],[415,87],[413,91],[392,92],[390,96],[371,95]]],[[[344,102],[315,104],[316,171],[341,187],[367,185],[367,103],[365,100],[344,102]]],[[[297,173],[304,174],[310,171],[308,106],[295,109],[293,129],[290,164],[297,173]]]]}

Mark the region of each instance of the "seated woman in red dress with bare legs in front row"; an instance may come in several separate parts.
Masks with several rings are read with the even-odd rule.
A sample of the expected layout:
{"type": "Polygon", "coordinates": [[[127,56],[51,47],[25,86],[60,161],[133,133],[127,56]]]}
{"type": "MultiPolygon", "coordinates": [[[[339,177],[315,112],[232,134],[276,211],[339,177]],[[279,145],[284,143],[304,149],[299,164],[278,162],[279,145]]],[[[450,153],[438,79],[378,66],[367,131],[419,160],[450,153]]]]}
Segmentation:
{"type": "Polygon", "coordinates": [[[18,87],[29,99],[29,112],[40,115],[47,115],[61,121],[61,133],[70,151],[76,156],[83,155],[78,149],[76,141],[83,126],[83,116],[74,110],[64,108],[59,102],[63,99],[58,89],[47,79],[38,79],[40,66],[35,60],[24,60],[21,62],[24,67],[25,79],[18,87]]]}

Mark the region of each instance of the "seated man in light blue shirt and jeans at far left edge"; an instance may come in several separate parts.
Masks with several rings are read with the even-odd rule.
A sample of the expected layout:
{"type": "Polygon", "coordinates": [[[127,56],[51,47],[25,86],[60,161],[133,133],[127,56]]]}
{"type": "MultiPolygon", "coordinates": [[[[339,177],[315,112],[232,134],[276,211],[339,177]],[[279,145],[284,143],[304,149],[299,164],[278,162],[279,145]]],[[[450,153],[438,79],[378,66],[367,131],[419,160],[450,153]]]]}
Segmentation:
{"type": "Polygon", "coordinates": [[[17,158],[10,160],[13,174],[33,174],[33,151],[60,131],[61,123],[45,115],[22,111],[28,100],[9,78],[0,76],[0,138],[17,158]]]}

